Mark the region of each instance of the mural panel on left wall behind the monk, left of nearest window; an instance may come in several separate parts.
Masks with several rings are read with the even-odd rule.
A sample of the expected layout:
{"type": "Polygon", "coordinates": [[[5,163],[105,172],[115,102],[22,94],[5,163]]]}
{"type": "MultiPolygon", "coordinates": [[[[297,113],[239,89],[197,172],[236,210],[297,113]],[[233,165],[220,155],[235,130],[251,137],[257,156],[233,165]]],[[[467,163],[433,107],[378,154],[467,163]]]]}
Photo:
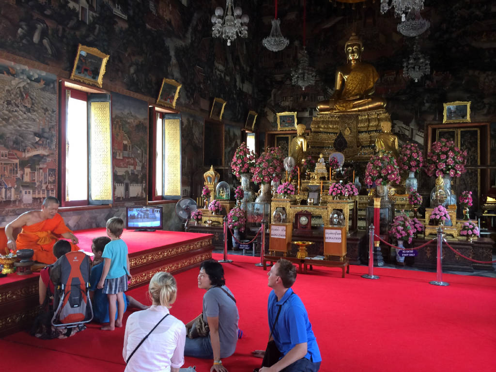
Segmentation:
{"type": "Polygon", "coordinates": [[[57,76],[0,59],[0,207],[57,196],[57,76]]]}

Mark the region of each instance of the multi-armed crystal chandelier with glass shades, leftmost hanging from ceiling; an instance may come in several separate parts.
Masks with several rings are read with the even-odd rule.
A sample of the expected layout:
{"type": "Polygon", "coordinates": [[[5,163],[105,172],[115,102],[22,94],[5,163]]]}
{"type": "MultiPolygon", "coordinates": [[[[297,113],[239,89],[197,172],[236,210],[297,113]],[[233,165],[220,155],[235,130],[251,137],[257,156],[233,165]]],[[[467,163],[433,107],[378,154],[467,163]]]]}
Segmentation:
{"type": "Polygon", "coordinates": [[[231,41],[235,40],[236,36],[248,37],[247,24],[249,17],[243,14],[241,7],[234,7],[232,0],[226,0],[226,15],[224,18],[222,18],[223,14],[224,9],[217,6],[215,8],[215,14],[210,18],[213,23],[212,36],[214,38],[222,35],[227,40],[227,45],[231,45],[231,41]]]}

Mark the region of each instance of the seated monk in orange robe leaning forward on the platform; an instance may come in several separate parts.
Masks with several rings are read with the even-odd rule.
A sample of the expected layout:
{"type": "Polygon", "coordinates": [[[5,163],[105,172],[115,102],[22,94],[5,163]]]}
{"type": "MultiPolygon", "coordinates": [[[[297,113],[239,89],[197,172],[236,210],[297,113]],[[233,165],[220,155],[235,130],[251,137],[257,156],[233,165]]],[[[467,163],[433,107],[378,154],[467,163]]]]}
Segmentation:
{"type": "Polygon", "coordinates": [[[21,214],[5,226],[7,248],[16,252],[18,249],[31,248],[34,250],[33,260],[52,264],[57,258],[53,247],[60,237],[71,240],[71,250],[79,250],[76,246],[78,239],[72,234],[62,216],[57,213],[59,200],[48,196],[41,206],[41,210],[29,211],[21,214]],[[22,231],[14,241],[13,229],[22,227],[22,231]]]}

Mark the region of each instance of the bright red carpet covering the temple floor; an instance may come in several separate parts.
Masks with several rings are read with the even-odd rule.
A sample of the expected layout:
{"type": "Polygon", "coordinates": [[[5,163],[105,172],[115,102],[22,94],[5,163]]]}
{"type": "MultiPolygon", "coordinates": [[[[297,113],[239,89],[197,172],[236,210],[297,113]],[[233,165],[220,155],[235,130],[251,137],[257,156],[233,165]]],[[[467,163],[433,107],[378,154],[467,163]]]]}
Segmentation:
{"type": "MultiPolygon", "coordinates": [[[[268,337],[267,272],[253,265],[256,257],[229,258],[235,262],[224,264],[227,285],[238,301],[244,336],[224,365],[229,372],[251,372],[261,360],[250,352],[265,348],[268,337]]],[[[450,286],[437,287],[429,284],[434,273],[376,268],[380,279],[368,280],[360,276],[366,272],[351,266],[345,279],[340,269],[298,274],[293,288],[309,311],[323,358],[320,371],[494,371],[495,279],[444,274],[450,286]]],[[[178,301],[171,312],[185,322],[201,311],[197,273],[176,275],[178,301]]],[[[141,287],[129,294],[146,303],[145,292],[141,287]]],[[[16,333],[0,340],[2,370],[123,371],[123,335],[124,328],[106,332],[97,324],[65,340],[16,333]]],[[[211,363],[186,358],[189,365],[208,372],[211,363]]]]}

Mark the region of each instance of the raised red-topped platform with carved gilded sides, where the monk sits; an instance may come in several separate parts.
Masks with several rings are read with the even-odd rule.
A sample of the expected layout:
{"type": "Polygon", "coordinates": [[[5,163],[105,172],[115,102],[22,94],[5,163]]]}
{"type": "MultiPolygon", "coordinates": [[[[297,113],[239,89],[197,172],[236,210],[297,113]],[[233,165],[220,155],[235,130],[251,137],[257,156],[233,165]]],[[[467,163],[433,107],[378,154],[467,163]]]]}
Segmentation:
{"type": "MultiPolygon", "coordinates": [[[[91,241],[106,236],[106,229],[75,231],[79,248],[91,252],[91,241]]],[[[176,231],[124,230],[132,281],[129,288],[150,281],[158,271],[177,273],[212,257],[212,235],[176,231]]],[[[38,311],[39,274],[9,274],[0,278],[0,337],[26,329],[38,311]]]]}

